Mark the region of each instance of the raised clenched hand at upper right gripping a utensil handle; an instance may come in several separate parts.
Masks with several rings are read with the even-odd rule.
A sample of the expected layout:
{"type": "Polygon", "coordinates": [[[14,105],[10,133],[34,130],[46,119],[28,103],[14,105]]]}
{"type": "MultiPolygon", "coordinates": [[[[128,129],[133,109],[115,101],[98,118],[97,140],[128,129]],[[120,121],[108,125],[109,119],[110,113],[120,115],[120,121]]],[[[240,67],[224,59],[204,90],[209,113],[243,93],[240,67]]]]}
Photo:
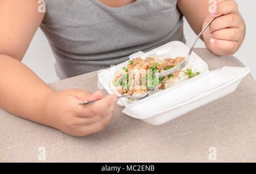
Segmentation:
{"type": "Polygon", "coordinates": [[[232,55],[245,38],[245,22],[233,0],[217,0],[217,12],[205,19],[203,28],[217,17],[203,33],[205,46],[216,55],[232,55]]]}

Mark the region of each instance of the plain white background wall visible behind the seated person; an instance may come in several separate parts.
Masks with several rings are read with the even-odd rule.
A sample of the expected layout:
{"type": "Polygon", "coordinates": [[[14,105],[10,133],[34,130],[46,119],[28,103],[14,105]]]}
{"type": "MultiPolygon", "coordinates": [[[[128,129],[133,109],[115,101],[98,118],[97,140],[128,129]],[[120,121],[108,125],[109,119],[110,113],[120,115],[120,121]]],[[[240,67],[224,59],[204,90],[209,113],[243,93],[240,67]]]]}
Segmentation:
{"type": "MultiPolygon", "coordinates": [[[[246,67],[249,67],[251,74],[256,79],[256,20],[255,20],[255,9],[256,1],[243,1],[237,0],[240,13],[245,19],[246,23],[246,38],[242,44],[242,47],[238,52],[234,54],[239,60],[242,61],[246,67]]],[[[184,20],[184,35],[187,40],[187,45],[190,47],[194,42],[196,35],[192,31],[191,27],[186,20],[184,20]]],[[[199,40],[196,47],[205,47],[204,43],[199,40]]],[[[45,38],[43,32],[39,29],[34,39],[32,40],[30,47],[22,61],[29,68],[32,69],[43,81],[50,83],[58,81],[59,78],[56,76],[54,69],[55,59],[52,55],[51,48],[45,38]]],[[[221,68],[221,67],[220,67],[221,68]]]]}

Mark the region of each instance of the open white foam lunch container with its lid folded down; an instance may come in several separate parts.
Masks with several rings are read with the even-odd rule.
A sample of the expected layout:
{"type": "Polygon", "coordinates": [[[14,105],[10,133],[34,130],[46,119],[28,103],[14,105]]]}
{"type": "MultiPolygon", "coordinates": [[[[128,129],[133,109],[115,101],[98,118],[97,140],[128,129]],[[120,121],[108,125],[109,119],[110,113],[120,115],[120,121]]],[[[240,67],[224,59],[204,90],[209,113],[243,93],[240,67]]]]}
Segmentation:
{"type": "MultiPolygon", "coordinates": [[[[129,60],[137,57],[146,59],[152,54],[168,55],[175,59],[178,56],[187,57],[188,52],[187,45],[174,41],[146,53],[142,51],[134,53],[129,56],[129,60]]],[[[109,94],[121,96],[114,86],[114,76],[115,72],[129,64],[129,60],[98,73],[98,81],[109,94]]],[[[118,105],[124,106],[122,113],[152,125],[161,125],[234,92],[242,78],[250,72],[249,68],[240,67],[220,67],[215,71],[209,71],[207,63],[195,52],[192,52],[191,60],[196,63],[199,76],[189,78],[139,101],[122,98],[118,101],[118,105]]]]}

